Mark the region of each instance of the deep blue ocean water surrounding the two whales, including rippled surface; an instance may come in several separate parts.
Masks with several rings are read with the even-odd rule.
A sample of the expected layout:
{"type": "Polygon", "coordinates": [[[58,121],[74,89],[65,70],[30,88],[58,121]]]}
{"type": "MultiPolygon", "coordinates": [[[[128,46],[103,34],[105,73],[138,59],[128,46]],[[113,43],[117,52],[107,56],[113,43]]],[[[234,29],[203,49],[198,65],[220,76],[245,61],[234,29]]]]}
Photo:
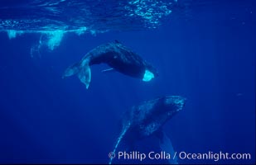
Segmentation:
{"type": "MultiPolygon", "coordinates": [[[[2,0],[0,163],[109,163],[125,111],[179,95],[184,110],[163,126],[177,153],[251,158],[178,163],[254,164],[255,13],[254,0],[2,0]],[[78,78],[61,78],[113,40],[151,62],[159,77],[101,73],[108,68],[101,64],[91,67],[88,90],[78,78]]],[[[154,151],[152,140],[143,143],[154,151]]]]}

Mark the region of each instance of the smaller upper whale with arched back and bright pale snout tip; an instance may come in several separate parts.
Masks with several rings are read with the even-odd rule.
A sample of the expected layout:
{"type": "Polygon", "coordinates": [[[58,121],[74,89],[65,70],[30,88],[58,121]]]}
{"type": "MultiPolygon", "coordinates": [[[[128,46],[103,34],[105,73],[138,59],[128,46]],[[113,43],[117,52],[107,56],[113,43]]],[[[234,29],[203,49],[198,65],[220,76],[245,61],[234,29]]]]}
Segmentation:
{"type": "Polygon", "coordinates": [[[132,50],[129,50],[115,40],[90,50],[80,62],[66,68],[62,78],[77,74],[80,81],[88,89],[91,80],[89,66],[101,63],[108,64],[111,67],[104,70],[104,72],[114,69],[133,78],[140,78],[145,82],[157,77],[156,68],[153,68],[151,64],[148,64],[138,54],[135,54],[132,50]]]}

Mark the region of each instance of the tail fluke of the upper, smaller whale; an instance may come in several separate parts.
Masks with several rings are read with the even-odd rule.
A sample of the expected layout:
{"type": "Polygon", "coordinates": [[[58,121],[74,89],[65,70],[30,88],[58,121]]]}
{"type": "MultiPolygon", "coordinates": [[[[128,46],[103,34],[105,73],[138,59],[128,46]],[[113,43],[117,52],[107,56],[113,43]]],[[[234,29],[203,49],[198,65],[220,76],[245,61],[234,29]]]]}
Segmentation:
{"type": "Polygon", "coordinates": [[[70,65],[69,68],[65,69],[65,72],[62,76],[62,78],[67,78],[70,76],[73,76],[77,74],[78,78],[80,78],[80,81],[85,84],[86,89],[89,88],[89,82],[91,79],[91,73],[89,68],[89,63],[76,63],[73,65],[70,65]]]}

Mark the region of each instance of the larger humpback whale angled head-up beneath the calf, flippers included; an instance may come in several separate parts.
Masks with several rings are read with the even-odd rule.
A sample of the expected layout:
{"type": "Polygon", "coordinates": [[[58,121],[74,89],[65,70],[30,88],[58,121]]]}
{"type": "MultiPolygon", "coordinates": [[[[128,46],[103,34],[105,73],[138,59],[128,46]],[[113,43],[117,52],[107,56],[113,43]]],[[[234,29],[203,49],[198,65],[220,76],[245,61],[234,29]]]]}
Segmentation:
{"type": "MultiPolygon", "coordinates": [[[[162,132],[162,125],[183,109],[185,101],[186,99],[180,96],[164,96],[133,106],[130,111],[124,114],[123,127],[112,153],[116,154],[118,146],[123,140],[128,141],[128,146],[131,146],[133,142],[139,139],[155,135],[159,139],[158,143],[162,151],[167,151],[173,156],[174,150],[171,140],[167,134],[162,132]]],[[[112,161],[113,158],[110,158],[109,164],[112,161]]],[[[169,163],[177,162],[176,159],[171,158],[169,163]]]]}

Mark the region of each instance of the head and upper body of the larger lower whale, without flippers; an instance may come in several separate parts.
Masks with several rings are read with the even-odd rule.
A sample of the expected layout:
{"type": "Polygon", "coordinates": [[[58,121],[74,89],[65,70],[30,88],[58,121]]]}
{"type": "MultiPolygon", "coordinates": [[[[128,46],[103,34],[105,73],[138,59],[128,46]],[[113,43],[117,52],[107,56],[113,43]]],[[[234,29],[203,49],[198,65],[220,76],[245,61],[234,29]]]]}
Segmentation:
{"type": "Polygon", "coordinates": [[[158,97],[133,106],[132,111],[123,118],[123,124],[131,124],[130,130],[138,139],[147,137],[160,130],[168,120],[185,105],[186,98],[180,96],[158,97]]]}

